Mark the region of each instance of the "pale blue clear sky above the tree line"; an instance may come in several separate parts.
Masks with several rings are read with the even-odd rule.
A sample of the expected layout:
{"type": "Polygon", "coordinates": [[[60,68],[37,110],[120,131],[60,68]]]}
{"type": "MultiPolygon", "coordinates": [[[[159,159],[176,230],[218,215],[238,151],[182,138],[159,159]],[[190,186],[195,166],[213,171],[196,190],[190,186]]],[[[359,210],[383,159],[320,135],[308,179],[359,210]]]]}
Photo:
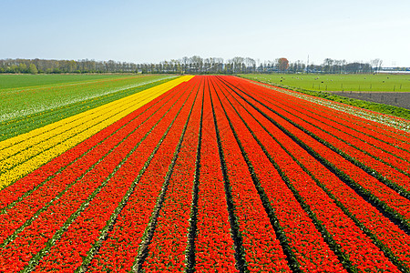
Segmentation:
{"type": "Polygon", "coordinates": [[[183,56],[410,66],[410,1],[0,0],[0,59],[183,56]]]}

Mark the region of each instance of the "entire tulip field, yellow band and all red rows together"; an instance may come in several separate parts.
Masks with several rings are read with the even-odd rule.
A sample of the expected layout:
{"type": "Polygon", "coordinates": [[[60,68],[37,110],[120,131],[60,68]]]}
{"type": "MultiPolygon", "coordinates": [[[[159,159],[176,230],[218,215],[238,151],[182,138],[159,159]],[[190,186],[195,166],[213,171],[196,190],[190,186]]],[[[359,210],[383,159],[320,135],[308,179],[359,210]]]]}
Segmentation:
{"type": "Polygon", "coordinates": [[[410,121],[323,101],[179,76],[10,135],[0,272],[410,272],[410,121]]]}

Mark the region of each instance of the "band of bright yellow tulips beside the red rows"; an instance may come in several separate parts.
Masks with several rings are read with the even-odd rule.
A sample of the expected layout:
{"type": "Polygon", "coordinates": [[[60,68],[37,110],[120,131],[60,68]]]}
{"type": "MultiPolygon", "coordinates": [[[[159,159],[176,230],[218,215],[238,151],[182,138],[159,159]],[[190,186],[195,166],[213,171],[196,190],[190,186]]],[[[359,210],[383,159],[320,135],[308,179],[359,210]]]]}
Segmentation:
{"type": "Polygon", "coordinates": [[[181,76],[160,86],[0,142],[0,188],[26,176],[191,77],[181,76]]]}

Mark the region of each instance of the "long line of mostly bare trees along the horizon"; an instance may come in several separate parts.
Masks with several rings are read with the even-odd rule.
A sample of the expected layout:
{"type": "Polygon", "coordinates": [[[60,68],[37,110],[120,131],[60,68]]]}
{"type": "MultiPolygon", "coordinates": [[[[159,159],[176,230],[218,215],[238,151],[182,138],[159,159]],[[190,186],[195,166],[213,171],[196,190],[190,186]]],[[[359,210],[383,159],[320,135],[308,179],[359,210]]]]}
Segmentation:
{"type": "Polygon", "coordinates": [[[301,60],[289,62],[287,58],[261,61],[236,56],[224,60],[220,57],[202,58],[184,56],[159,63],[134,64],[129,62],[96,60],[45,60],[2,59],[0,73],[143,73],[143,74],[248,74],[248,73],[374,73],[383,61],[347,63],[345,60],[326,58],[321,65],[305,64],[301,60]]]}

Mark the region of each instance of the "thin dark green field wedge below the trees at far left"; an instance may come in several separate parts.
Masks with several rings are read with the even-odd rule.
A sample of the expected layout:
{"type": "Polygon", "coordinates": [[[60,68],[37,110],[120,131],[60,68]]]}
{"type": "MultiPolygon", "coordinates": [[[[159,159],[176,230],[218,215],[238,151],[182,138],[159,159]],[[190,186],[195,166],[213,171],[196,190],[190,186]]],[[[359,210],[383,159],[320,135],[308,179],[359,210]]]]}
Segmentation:
{"type": "Polygon", "coordinates": [[[129,77],[129,75],[0,75],[0,90],[6,88],[45,86],[56,84],[76,83],[82,81],[101,80],[109,78],[129,77]]]}

